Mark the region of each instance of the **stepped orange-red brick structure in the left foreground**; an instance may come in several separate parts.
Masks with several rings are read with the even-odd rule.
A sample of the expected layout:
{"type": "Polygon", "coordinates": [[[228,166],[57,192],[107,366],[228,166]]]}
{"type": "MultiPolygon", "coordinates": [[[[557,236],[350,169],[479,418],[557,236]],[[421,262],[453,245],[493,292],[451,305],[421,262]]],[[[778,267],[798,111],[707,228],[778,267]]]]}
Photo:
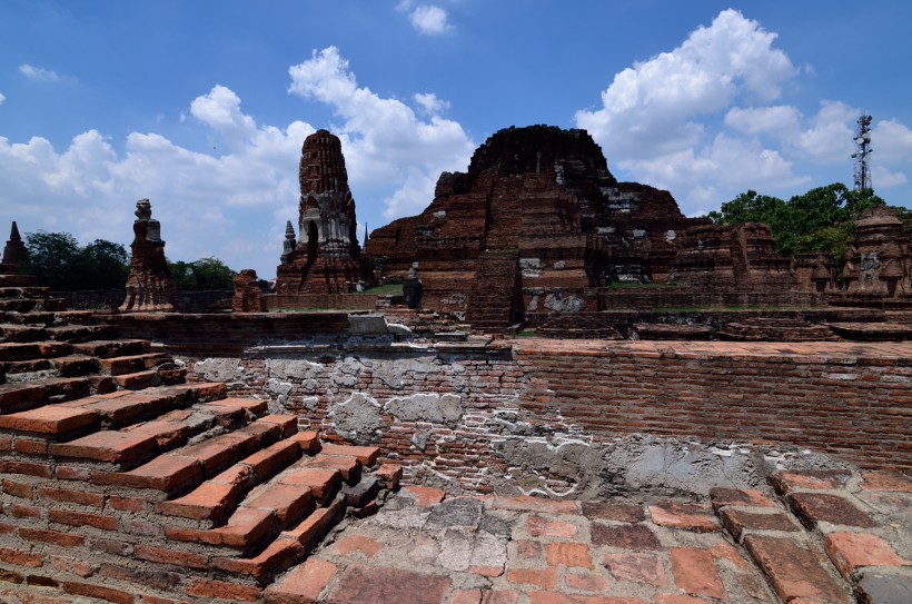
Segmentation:
{"type": "Polygon", "coordinates": [[[0,602],[256,602],[397,485],[48,294],[0,274],[0,602]]]}

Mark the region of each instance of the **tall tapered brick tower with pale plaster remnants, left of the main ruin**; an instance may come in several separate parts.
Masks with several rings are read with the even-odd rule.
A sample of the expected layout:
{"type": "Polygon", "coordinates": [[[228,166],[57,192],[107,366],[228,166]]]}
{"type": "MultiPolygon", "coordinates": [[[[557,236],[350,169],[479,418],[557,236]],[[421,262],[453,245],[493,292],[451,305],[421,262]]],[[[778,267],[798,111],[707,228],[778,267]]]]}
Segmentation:
{"type": "Polygon", "coordinates": [[[298,238],[289,222],[276,294],[347,294],[359,280],[360,246],[339,138],[327,130],[307,137],[299,177],[298,238]]]}

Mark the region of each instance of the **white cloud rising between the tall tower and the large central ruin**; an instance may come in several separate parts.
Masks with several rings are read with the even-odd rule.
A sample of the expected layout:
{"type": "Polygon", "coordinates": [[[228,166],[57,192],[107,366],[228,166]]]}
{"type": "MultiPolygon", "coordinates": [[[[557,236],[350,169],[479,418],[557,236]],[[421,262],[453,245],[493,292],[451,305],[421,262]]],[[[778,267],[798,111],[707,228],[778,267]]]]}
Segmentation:
{"type": "MultiPolygon", "coordinates": [[[[289,73],[290,92],[329,105],[345,120],[334,133],[343,141],[356,198],[358,191],[396,188],[384,201],[387,219],[423,210],[442,171],[466,169],[475,143],[458,122],[436,115],[422,120],[402,101],[359,87],[337,48],[314,51],[289,73]]],[[[436,96],[423,98],[430,97],[439,103],[436,96]]]]}

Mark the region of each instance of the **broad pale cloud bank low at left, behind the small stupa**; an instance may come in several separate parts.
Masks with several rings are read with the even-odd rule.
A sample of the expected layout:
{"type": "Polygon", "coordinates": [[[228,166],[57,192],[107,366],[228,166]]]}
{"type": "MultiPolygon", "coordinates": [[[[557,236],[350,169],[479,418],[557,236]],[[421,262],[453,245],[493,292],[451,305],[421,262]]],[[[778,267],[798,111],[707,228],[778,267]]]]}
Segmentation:
{"type": "Polygon", "coordinates": [[[169,257],[216,256],[269,276],[281,238],[254,225],[264,211],[295,216],[300,143],[314,128],[301,121],[282,129],[257,126],[239,107],[220,86],[191,103],[190,113],[214,135],[244,132],[242,146],[219,156],[153,132],[131,132],[120,154],[97,130],[78,135],[61,151],[40,137],[26,143],[0,137],[0,214],[29,232],[129,244],[136,200],[148,197],[169,257]]]}

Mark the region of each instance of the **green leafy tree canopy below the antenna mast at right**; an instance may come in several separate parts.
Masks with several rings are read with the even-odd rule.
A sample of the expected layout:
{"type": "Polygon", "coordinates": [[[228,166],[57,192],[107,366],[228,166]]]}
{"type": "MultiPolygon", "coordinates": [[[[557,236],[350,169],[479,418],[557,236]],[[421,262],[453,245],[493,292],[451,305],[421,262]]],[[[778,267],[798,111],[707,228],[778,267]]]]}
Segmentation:
{"type": "Polygon", "coordinates": [[[886,202],[871,189],[855,191],[835,182],[796,195],[789,201],[749,190],[723,204],[720,211],[711,211],[708,218],[733,227],[764,222],[776,238],[780,254],[829,251],[842,264],[855,234],[854,220],[865,209],[884,205],[886,202]]]}

